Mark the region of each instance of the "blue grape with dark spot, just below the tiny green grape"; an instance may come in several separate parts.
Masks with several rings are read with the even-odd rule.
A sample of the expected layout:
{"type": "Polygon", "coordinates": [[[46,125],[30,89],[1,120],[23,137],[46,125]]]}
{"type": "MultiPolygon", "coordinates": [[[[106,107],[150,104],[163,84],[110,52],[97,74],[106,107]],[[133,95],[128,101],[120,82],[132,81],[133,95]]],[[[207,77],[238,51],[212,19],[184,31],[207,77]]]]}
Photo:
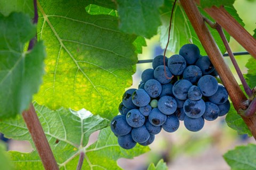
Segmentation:
{"type": "Polygon", "coordinates": [[[158,108],[154,108],[151,110],[148,119],[152,125],[161,126],[165,123],[166,115],[164,115],[158,108]]]}

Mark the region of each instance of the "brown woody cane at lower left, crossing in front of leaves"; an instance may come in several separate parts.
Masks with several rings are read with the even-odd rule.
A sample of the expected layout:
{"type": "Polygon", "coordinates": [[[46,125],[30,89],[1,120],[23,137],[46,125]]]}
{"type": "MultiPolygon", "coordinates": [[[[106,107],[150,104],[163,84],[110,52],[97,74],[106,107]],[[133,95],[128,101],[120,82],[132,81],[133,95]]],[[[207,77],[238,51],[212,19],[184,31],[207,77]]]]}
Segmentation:
{"type": "Polygon", "coordinates": [[[28,110],[23,111],[22,117],[25,120],[44,168],[46,170],[59,169],[32,103],[28,110]]]}

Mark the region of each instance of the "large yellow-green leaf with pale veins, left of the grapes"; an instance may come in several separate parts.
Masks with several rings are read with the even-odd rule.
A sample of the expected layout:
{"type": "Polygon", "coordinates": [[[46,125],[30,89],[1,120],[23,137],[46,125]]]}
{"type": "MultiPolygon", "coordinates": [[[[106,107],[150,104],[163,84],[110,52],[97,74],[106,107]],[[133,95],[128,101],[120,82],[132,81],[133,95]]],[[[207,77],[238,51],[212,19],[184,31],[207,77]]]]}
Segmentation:
{"type": "Polygon", "coordinates": [[[92,3],[103,4],[38,2],[38,38],[44,39],[49,56],[35,100],[53,110],[85,108],[111,119],[124,89],[132,85],[137,36],[119,31],[117,17],[87,13],[92,3]]]}

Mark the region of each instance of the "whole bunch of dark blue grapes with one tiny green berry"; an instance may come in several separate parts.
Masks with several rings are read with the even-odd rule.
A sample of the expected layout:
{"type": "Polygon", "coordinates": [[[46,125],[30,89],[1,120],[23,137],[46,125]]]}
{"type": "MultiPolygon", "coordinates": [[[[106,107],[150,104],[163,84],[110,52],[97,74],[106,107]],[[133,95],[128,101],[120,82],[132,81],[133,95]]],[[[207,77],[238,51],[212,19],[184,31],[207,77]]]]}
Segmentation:
{"type": "Polygon", "coordinates": [[[152,64],[153,69],[142,72],[139,89],[123,94],[121,115],[111,121],[122,148],[149,145],[162,128],[177,131],[180,120],[189,131],[199,131],[205,120],[215,120],[229,111],[228,92],[215,78],[218,74],[210,59],[200,55],[196,45],[183,45],[179,54],[169,59],[158,55],[152,64]]]}

